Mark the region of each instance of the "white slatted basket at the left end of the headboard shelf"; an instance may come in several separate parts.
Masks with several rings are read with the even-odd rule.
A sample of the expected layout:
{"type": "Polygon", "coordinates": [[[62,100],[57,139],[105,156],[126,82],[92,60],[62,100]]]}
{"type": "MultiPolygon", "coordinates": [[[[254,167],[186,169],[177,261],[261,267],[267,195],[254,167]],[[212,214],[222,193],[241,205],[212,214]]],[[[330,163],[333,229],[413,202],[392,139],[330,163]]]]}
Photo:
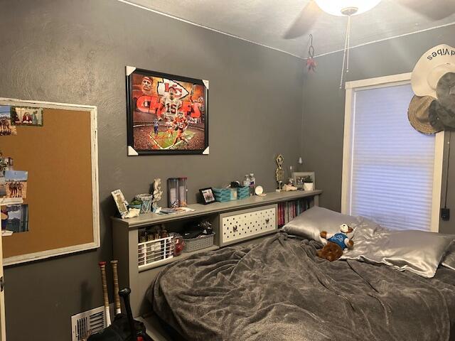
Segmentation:
{"type": "Polygon", "coordinates": [[[137,244],[137,261],[141,266],[173,257],[173,236],[137,244]]]}

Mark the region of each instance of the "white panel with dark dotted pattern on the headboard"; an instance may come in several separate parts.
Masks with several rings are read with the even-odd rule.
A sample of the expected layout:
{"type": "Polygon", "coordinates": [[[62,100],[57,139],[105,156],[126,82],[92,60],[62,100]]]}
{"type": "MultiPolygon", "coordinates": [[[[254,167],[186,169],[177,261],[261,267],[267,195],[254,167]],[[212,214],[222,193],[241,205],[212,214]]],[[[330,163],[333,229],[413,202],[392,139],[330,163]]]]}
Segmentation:
{"type": "Polygon", "coordinates": [[[220,215],[221,243],[231,244],[239,239],[277,229],[276,206],[220,215]]]}

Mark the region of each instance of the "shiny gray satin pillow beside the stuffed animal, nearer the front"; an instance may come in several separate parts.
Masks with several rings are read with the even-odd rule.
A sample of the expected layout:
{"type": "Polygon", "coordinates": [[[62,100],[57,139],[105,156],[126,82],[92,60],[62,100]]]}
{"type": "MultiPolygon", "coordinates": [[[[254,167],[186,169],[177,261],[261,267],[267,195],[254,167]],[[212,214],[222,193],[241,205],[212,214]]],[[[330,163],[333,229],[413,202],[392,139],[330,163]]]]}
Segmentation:
{"type": "Polygon", "coordinates": [[[341,259],[386,264],[432,278],[453,239],[453,235],[435,232],[392,231],[370,222],[357,227],[354,248],[341,259]]]}

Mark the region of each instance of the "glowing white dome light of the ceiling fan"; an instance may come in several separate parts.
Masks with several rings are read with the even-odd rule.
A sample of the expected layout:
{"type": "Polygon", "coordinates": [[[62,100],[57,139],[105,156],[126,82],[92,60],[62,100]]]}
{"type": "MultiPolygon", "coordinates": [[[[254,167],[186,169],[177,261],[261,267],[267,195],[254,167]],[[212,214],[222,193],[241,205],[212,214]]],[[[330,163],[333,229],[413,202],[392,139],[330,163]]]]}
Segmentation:
{"type": "Polygon", "coordinates": [[[370,11],[381,0],[315,0],[326,13],[333,16],[355,16],[370,11]]]}

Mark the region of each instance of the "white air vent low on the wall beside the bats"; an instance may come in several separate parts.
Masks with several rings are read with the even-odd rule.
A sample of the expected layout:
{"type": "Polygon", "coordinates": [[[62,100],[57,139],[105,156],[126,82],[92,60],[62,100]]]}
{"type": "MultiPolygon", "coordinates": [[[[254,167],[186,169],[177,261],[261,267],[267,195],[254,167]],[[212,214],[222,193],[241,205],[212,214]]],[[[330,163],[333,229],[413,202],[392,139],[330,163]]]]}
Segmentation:
{"type": "Polygon", "coordinates": [[[71,316],[71,333],[73,341],[85,341],[87,337],[99,332],[106,326],[105,308],[95,308],[71,316]]]}

